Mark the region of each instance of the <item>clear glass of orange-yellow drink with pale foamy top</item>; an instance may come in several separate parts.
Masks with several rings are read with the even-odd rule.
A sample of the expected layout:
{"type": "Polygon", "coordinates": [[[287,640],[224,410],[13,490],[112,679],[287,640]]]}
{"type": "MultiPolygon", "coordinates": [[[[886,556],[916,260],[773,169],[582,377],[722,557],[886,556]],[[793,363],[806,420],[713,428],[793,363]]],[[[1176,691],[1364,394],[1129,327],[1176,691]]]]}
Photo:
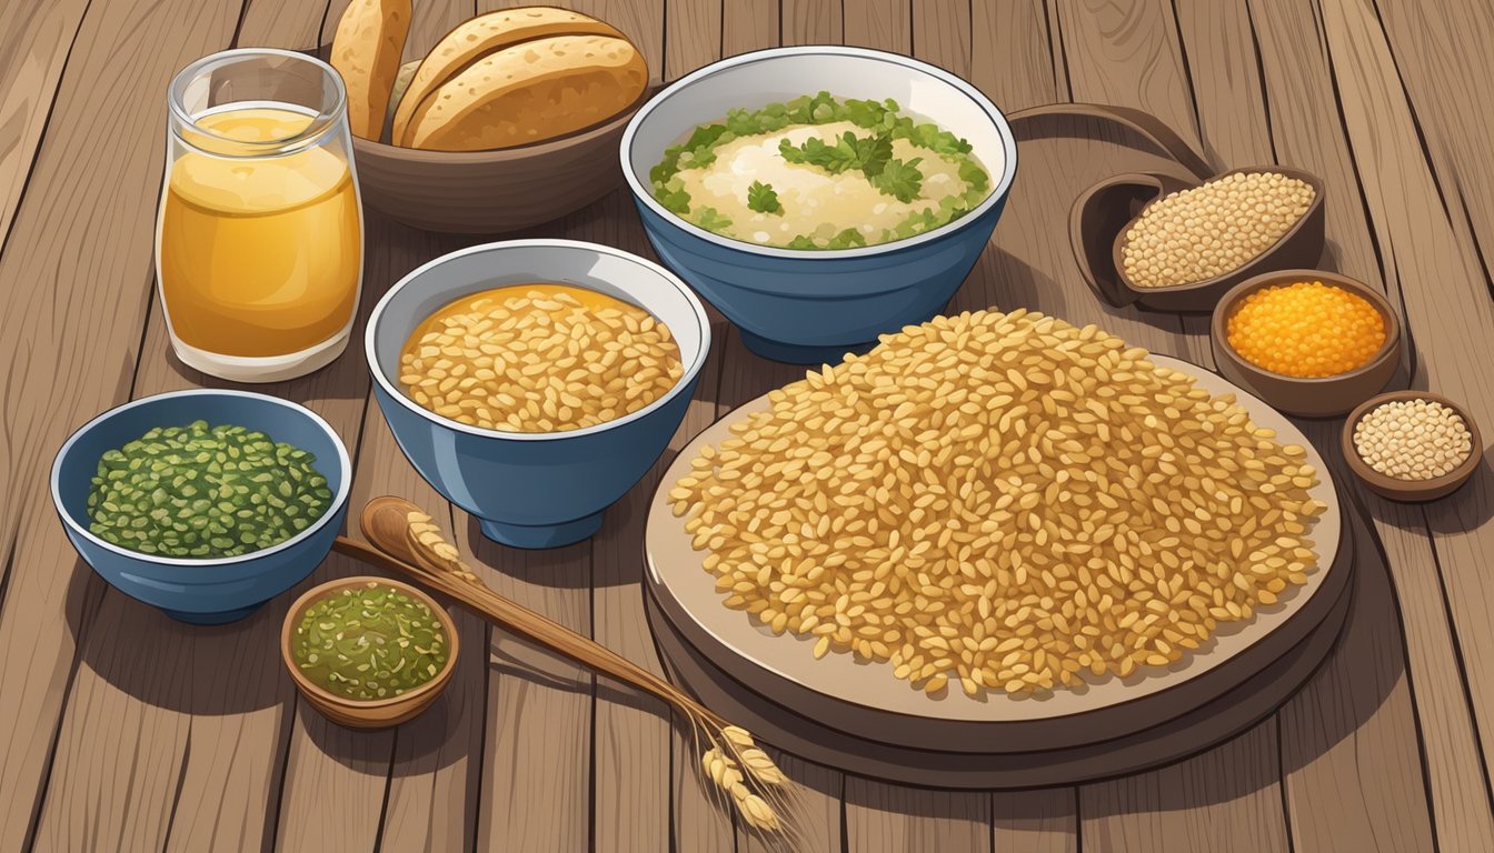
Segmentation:
{"type": "Polygon", "coordinates": [[[327,365],[363,279],[342,78],[303,54],[224,51],[182,69],[169,102],[155,270],[176,356],[241,382],[327,365]]]}

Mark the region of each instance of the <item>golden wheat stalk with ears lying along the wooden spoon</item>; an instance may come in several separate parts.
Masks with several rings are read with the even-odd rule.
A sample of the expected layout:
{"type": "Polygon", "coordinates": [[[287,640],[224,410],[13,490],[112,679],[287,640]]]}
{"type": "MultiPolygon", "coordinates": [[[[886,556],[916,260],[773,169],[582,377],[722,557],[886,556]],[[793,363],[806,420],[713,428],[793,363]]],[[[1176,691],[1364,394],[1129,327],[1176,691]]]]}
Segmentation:
{"type": "MultiPolygon", "coordinates": [[[[430,515],[409,511],[405,521],[409,526],[409,538],[424,547],[429,563],[438,565],[444,574],[453,578],[492,592],[477,572],[462,560],[462,553],[447,542],[441,527],[432,521],[430,515]],[[436,559],[429,559],[432,556],[436,559]]],[[[545,641],[542,635],[526,633],[541,642],[545,641]]],[[[620,677],[683,713],[696,741],[710,744],[710,748],[701,756],[701,769],[705,772],[705,778],[726,795],[747,826],[762,834],[789,834],[784,816],[795,811],[793,789],[786,784],[789,777],[757,745],[747,729],[726,723],[666,681],[651,677],[648,680],[627,678],[613,666],[598,668],[595,662],[577,656],[571,650],[562,648],[560,651],[607,675],[620,677]]]]}

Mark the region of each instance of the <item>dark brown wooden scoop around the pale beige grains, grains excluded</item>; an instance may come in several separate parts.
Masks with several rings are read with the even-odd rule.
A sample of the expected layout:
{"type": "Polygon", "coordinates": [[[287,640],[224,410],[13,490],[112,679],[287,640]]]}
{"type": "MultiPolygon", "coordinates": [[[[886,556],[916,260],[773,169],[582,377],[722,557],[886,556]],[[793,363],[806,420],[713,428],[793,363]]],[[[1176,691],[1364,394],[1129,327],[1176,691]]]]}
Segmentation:
{"type": "Polygon", "coordinates": [[[1070,241],[1085,281],[1110,305],[1203,314],[1213,311],[1225,291],[1252,276],[1318,263],[1324,248],[1324,184],[1310,172],[1276,164],[1231,169],[1207,181],[1197,181],[1182,172],[1116,175],[1095,184],[1074,202],[1070,214],[1070,241]],[[1191,190],[1249,172],[1276,172],[1297,178],[1313,188],[1307,212],[1274,245],[1245,266],[1204,281],[1173,287],[1140,287],[1126,276],[1123,264],[1126,232],[1144,215],[1146,208],[1177,190],[1191,190]]]}

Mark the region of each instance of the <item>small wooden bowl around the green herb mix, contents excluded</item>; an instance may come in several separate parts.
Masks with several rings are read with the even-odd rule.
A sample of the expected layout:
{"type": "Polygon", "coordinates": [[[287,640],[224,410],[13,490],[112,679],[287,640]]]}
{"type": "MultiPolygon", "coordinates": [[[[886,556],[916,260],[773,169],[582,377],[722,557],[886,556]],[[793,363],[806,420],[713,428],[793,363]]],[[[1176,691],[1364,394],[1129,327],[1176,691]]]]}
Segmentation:
{"type": "Polygon", "coordinates": [[[430,704],[436,701],[436,696],[445,690],[447,683],[451,681],[451,672],[456,671],[457,651],[459,639],[456,623],[451,620],[451,615],[447,614],[445,608],[436,604],[433,598],[406,583],[374,575],[341,578],[306,590],[306,593],[296,599],[296,604],[290,607],[290,611],[285,612],[285,624],[281,627],[281,660],[285,662],[285,671],[290,672],[290,678],[296,683],[296,689],[300,690],[300,695],[305,696],[308,702],[311,702],[312,708],[320,711],[333,723],[350,729],[384,729],[388,726],[397,726],[429,708],[430,704]],[[296,626],[300,623],[300,617],[306,612],[306,608],[332,593],[366,584],[391,587],[414,598],[415,601],[423,602],[430,608],[430,612],[436,614],[436,618],[441,620],[441,629],[447,632],[447,645],[451,650],[447,654],[447,665],[441,669],[441,672],[436,672],[435,678],[426,681],[420,687],[405,692],[400,696],[388,696],[385,699],[348,699],[347,696],[339,696],[306,678],[300,668],[296,666],[296,659],[291,654],[291,638],[294,636],[296,626]]]}

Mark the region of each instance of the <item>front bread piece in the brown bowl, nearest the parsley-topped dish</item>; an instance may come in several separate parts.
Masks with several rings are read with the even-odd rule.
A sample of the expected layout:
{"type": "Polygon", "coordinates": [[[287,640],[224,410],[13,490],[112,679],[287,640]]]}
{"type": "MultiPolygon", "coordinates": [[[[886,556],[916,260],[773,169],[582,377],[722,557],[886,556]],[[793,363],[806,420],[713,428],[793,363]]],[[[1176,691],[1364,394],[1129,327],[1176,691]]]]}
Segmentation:
{"type": "Polygon", "coordinates": [[[617,115],[642,94],[638,49],[608,36],[556,36],[492,52],[430,93],[406,139],[432,151],[509,148],[617,115]]]}

